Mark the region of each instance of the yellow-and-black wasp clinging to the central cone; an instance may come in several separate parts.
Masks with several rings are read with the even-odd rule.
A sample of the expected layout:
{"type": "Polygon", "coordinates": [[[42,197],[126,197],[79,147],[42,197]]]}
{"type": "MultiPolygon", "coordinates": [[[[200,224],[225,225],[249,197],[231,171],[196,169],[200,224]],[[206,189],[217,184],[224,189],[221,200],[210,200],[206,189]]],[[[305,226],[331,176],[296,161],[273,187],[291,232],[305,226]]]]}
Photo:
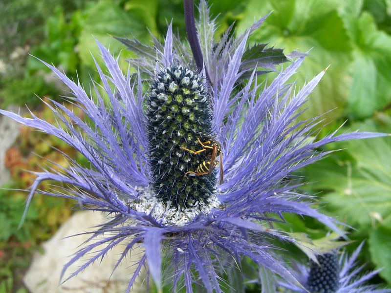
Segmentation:
{"type": "Polygon", "coordinates": [[[221,145],[220,143],[213,139],[209,138],[209,140],[205,142],[201,142],[199,138],[197,138],[198,143],[202,146],[202,149],[194,151],[191,149],[188,149],[186,147],[181,146],[180,149],[187,150],[191,152],[192,154],[199,154],[201,152],[204,152],[208,149],[212,149],[212,156],[210,160],[206,160],[201,162],[201,164],[198,165],[198,167],[195,169],[195,171],[188,171],[187,174],[195,174],[196,176],[211,174],[213,169],[217,166],[218,163],[220,163],[220,182],[219,184],[223,183],[223,156],[221,151],[221,145]],[[220,162],[217,160],[217,157],[220,157],[220,162]]]}

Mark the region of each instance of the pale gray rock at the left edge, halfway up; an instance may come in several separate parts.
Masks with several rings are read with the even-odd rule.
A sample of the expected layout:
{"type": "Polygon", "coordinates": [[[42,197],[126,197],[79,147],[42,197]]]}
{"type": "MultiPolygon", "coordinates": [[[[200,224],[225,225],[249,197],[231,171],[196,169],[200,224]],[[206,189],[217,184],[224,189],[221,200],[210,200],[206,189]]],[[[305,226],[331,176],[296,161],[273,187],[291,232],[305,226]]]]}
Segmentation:
{"type": "MultiPolygon", "coordinates": [[[[17,107],[7,110],[18,111],[17,107]]],[[[7,149],[12,146],[19,135],[19,124],[12,119],[0,115],[0,187],[9,180],[9,172],[4,166],[4,157],[7,149]]]]}

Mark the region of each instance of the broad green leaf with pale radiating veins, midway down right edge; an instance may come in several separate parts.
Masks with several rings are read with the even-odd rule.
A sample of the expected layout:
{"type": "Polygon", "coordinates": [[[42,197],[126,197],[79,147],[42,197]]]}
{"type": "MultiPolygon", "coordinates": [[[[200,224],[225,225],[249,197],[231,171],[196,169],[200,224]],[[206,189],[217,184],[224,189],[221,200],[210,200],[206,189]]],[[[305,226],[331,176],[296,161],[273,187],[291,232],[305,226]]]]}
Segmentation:
{"type": "MultiPolygon", "coordinates": [[[[382,123],[369,120],[351,128],[391,132],[390,119],[382,123]]],[[[338,147],[347,150],[306,167],[302,175],[311,182],[312,192],[326,190],[323,201],[329,213],[369,229],[391,215],[391,138],[348,141],[338,147]]]]}

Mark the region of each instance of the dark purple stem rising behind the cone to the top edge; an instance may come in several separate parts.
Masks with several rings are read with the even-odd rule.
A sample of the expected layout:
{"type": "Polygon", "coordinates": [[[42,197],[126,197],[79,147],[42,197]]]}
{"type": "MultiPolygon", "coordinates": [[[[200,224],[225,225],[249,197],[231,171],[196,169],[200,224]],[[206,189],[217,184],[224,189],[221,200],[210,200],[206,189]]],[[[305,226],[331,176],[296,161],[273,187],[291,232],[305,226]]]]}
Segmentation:
{"type": "MultiPolygon", "coordinates": [[[[201,47],[198,42],[197,31],[195,29],[194,1],[183,0],[183,7],[185,11],[185,24],[186,24],[187,38],[190,43],[190,48],[192,49],[193,52],[195,64],[197,65],[198,70],[201,70],[204,67],[204,59],[202,57],[201,47]]],[[[205,75],[208,82],[212,84],[206,68],[205,68],[205,75]]]]}

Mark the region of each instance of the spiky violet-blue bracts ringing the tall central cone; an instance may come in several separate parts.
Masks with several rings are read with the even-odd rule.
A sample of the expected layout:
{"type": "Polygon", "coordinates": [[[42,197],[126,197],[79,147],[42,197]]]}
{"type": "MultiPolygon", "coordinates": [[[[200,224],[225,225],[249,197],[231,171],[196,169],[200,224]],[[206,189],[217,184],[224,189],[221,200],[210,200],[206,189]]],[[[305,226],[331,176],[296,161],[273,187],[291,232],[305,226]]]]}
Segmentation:
{"type": "MultiPolygon", "coordinates": [[[[202,70],[197,78],[206,80],[204,73],[208,72],[210,87],[205,90],[211,99],[213,112],[206,118],[206,121],[211,119],[212,128],[202,127],[202,131],[209,134],[213,129],[214,138],[221,143],[224,182],[216,187],[214,194],[221,205],[213,209],[194,209],[192,219],[185,224],[166,224],[161,218],[154,217],[152,211],[135,210],[130,205],[146,195],[145,190],[151,190],[151,186],[155,191],[159,189],[157,182],[162,180],[160,173],[150,166],[151,160],[157,157],[153,159],[149,153],[153,151],[149,144],[153,137],[148,130],[152,117],[143,111],[145,100],[149,99],[148,92],[143,91],[143,84],[152,84],[153,88],[153,80],[159,79],[159,72],[167,72],[173,66],[186,64],[193,72],[197,68],[188,46],[173,35],[171,25],[163,44],[155,39],[153,47],[135,40],[126,41],[139,55],[130,60],[130,65],[138,68],[138,73],[133,75],[130,71],[124,74],[117,60],[98,43],[106,68],[96,64],[101,80],[101,85],[95,84],[95,88],[92,88],[96,98],[89,96],[78,81],[68,79],[55,67],[45,63],[69,88],[72,103],[84,111],[88,122],[56,101],[47,106],[53,110],[59,122],[57,125],[51,125],[33,114],[32,118],[24,118],[0,110],[1,114],[24,125],[61,138],[82,153],[91,164],[87,168],[71,160],[71,166],[63,167],[61,171],[44,170],[38,173],[27,199],[28,207],[34,193],[40,192],[74,199],[82,209],[110,215],[107,223],[91,232],[85,247],[65,265],[63,275],[71,264],[92,251],[95,252],[94,256],[69,277],[82,272],[116,245],[124,247],[118,264],[134,247],[142,245],[144,251],[134,266],[128,292],[147,265],[147,272],[161,288],[162,259],[166,256],[170,262],[166,263],[165,278],[172,284],[173,291],[184,286],[191,293],[192,284],[197,282],[203,284],[207,293],[222,292],[225,284],[221,282],[220,273],[232,263],[239,264],[242,257],[251,258],[257,265],[297,284],[269,241],[273,237],[287,241],[294,239],[270,229],[270,222],[276,219],[283,221],[282,214],[290,212],[314,217],[339,231],[334,220],[312,209],[311,199],[298,194],[295,182],[287,178],[297,169],[324,157],[327,152],[314,150],[320,146],[382,134],[330,133],[315,141],[315,127],[320,120],[301,121],[300,109],[325,72],[295,91],[295,85],[288,83],[288,80],[305,58],[305,54],[296,54],[298,58],[269,85],[258,84],[257,75],[264,73],[264,70],[257,64],[273,70],[275,63],[259,56],[244,63],[243,56],[248,55],[245,54],[249,49],[246,46],[248,36],[261,25],[263,19],[238,38],[231,37],[232,34],[227,32],[216,41],[216,23],[210,19],[205,1],[200,2],[199,15],[198,37],[207,70],[202,70]],[[147,80],[144,81],[144,78],[147,80]],[[38,186],[44,180],[55,180],[66,185],[61,185],[63,192],[40,191],[38,186]],[[140,188],[144,190],[141,195],[140,188]],[[164,255],[162,251],[165,251],[164,255]]],[[[167,91],[166,84],[163,91],[167,91]]],[[[183,108],[183,101],[180,103],[178,107],[183,108]]],[[[188,109],[193,111],[192,107],[188,109]]],[[[185,122],[190,123],[190,116],[183,116],[183,126],[185,122]]],[[[171,133],[169,130],[167,137],[171,133]]],[[[167,137],[163,138],[163,131],[160,134],[162,139],[169,142],[167,137]]],[[[176,145],[174,147],[177,149],[176,145]]],[[[178,159],[177,162],[182,161],[178,159]]],[[[186,168],[183,171],[187,171],[186,168]]],[[[191,180],[195,179],[199,178],[191,180]]],[[[165,187],[165,182],[161,183],[165,187]]],[[[179,190],[176,189],[178,194],[179,190]]],[[[167,196],[160,196],[159,200],[167,199],[167,196]]],[[[181,196],[179,198],[182,199],[181,196]]],[[[171,217],[169,214],[163,216],[171,217]]]]}

